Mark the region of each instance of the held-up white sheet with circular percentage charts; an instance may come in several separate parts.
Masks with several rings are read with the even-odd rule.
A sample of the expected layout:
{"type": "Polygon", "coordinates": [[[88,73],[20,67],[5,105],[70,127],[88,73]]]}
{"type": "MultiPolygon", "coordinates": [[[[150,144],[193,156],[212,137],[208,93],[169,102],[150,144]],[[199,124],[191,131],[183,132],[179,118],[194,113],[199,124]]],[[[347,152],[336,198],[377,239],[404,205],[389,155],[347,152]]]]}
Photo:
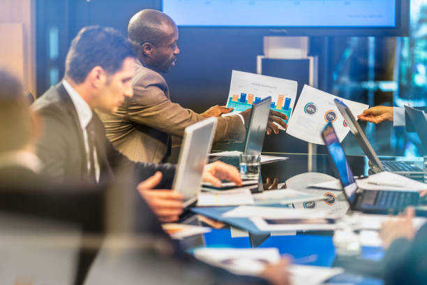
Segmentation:
{"type": "MultiPolygon", "coordinates": [[[[336,108],[335,98],[339,97],[305,85],[295,106],[294,113],[287,123],[286,132],[295,138],[313,142],[317,145],[324,145],[320,133],[325,124],[332,122],[341,142],[347,136],[350,128],[345,124],[343,116],[336,108]]],[[[343,98],[339,99],[348,105],[354,115],[359,115],[369,108],[369,105],[366,104],[343,98]]]]}

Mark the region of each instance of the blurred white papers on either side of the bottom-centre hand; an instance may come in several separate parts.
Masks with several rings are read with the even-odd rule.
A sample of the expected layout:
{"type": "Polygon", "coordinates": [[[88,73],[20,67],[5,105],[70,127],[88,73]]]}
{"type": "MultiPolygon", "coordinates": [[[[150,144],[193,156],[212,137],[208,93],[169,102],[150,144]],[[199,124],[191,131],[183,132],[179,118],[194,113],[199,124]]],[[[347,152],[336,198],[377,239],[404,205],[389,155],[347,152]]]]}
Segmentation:
{"type": "MultiPolygon", "coordinates": [[[[280,261],[280,254],[276,248],[202,248],[196,249],[194,255],[201,261],[241,275],[260,275],[267,265],[273,265],[280,261]]],[[[289,268],[291,284],[293,285],[322,284],[342,272],[342,268],[324,268],[308,265],[290,265],[289,268]]]]}

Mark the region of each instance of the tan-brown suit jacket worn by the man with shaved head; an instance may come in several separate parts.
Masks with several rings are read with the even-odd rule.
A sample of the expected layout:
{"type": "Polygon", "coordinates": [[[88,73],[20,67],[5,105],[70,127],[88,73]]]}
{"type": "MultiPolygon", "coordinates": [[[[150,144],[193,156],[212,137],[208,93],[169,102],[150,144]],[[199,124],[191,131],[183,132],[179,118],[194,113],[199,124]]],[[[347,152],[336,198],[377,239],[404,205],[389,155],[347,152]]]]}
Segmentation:
{"type": "MultiPolygon", "coordinates": [[[[140,61],[135,62],[133,92],[133,98],[127,98],[116,114],[98,115],[114,147],[134,161],[163,161],[171,136],[182,138],[187,126],[204,119],[193,110],[172,103],[163,76],[140,61]]],[[[214,142],[244,140],[245,136],[238,116],[218,118],[214,142]]]]}

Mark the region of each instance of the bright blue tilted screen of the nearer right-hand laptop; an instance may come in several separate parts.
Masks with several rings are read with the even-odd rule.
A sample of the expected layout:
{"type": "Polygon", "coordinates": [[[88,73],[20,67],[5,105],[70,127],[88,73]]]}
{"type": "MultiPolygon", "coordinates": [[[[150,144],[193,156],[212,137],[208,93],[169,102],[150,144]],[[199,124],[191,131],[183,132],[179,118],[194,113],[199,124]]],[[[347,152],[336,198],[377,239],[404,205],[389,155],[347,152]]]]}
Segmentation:
{"type": "Polygon", "coordinates": [[[324,144],[327,146],[331,163],[333,163],[332,168],[334,168],[336,175],[338,175],[338,179],[343,185],[345,195],[350,200],[350,203],[353,203],[357,185],[354,181],[352,170],[345,158],[344,149],[341,147],[338,137],[336,136],[334,126],[332,126],[331,123],[327,124],[323,129],[322,138],[324,140],[324,144]]]}

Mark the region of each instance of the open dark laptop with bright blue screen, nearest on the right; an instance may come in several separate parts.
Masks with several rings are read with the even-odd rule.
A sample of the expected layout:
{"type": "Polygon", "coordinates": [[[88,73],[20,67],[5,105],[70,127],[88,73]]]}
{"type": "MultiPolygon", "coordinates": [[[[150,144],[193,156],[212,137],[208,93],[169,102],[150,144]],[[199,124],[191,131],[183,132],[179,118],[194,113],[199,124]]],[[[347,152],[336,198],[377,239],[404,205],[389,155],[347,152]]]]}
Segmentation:
{"type": "Polygon", "coordinates": [[[359,189],[331,123],[324,127],[322,138],[327,146],[331,167],[340,180],[350,209],[372,214],[391,214],[401,212],[409,205],[418,204],[418,192],[359,189]]]}

